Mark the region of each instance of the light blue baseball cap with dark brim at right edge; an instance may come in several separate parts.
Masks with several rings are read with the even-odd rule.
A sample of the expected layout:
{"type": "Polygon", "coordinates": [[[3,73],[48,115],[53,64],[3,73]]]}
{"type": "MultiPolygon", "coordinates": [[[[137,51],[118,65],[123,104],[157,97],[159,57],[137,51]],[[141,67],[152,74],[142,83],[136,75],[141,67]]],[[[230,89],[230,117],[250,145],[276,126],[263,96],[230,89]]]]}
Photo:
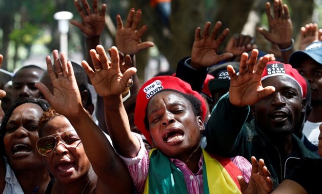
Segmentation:
{"type": "Polygon", "coordinates": [[[315,62],[322,65],[322,42],[311,43],[305,50],[298,50],[291,54],[289,64],[296,68],[306,57],[310,57],[315,62]]]}

